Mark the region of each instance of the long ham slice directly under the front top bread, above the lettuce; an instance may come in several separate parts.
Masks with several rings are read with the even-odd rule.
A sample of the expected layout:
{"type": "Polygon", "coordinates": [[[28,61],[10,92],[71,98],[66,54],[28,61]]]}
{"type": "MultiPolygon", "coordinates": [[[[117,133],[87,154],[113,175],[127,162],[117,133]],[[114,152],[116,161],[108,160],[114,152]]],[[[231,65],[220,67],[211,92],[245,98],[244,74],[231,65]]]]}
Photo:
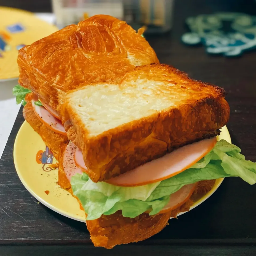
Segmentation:
{"type": "Polygon", "coordinates": [[[217,139],[214,137],[180,147],[163,157],[111,178],[106,182],[116,186],[131,187],[162,181],[194,165],[213,149],[216,142],[217,139]]]}

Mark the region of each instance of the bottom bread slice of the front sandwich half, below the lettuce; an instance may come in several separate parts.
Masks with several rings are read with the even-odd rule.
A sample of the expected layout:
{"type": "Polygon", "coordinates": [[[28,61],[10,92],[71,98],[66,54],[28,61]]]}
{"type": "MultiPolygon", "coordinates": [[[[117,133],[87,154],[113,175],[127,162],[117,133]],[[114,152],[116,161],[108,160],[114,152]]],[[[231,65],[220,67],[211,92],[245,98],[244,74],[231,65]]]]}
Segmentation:
{"type": "MultiPolygon", "coordinates": [[[[168,220],[171,217],[176,218],[178,213],[189,211],[193,202],[197,201],[210,191],[214,183],[215,180],[198,182],[190,199],[183,203],[183,205],[167,213],[153,216],[143,213],[138,217],[131,219],[123,217],[121,211],[118,211],[108,216],[102,215],[98,219],[86,221],[91,240],[94,243],[94,246],[101,246],[107,249],[111,249],[115,245],[145,240],[152,235],[157,234],[168,225],[168,220]]],[[[67,178],[65,179],[65,173],[61,167],[61,162],[58,184],[61,187],[64,186],[63,188],[73,194],[69,180],[67,178]]]]}

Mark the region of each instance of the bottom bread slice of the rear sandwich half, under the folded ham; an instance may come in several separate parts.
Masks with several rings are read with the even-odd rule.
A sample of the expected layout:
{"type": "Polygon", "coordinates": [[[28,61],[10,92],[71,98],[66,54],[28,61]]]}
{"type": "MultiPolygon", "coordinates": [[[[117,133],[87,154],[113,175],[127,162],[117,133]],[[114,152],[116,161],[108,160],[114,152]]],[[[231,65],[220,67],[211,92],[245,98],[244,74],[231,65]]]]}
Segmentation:
{"type": "Polygon", "coordinates": [[[36,116],[32,107],[32,93],[26,95],[27,104],[23,108],[23,116],[31,127],[41,136],[46,146],[49,147],[57,161],[60,161],[61,155],[68,144],[67,136],[55,133],[44,125],[36,116]]]}

